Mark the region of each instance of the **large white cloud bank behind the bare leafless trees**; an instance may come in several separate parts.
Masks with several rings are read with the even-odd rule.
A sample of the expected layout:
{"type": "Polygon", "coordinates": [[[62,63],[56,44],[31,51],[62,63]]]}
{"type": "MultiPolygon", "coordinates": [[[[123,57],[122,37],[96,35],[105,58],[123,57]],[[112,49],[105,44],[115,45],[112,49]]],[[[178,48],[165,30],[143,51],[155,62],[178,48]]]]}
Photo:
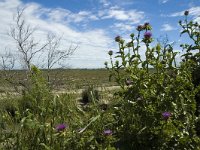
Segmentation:
{"type": "MultiPolygon", "coordinates": [[[[70,25],[70,22],[82,23],[87,20],[98,19],[92,12],[80,11],[73,13],[61,8],[44,8],[37,3],[28,3],[26,5],[24,17],[31,26],[37,27],[37,32],[34,34],[37,41],[45,41],[45,36],[48,32],[63,35],[66,44],[61,45],[62,47],[68,46],[71,42],[79,43],[75,55],[70,59],[72,67],[104,67],[103,63],[108,58],[106,50],[110,47],[110,43],[112,44],[113,39],[107,35],[104,29],[80,31],[70,25]]],[[[6,32],[12,23],[13,14],[16,12],[17,7],[24,6],[25,4],[20,0],[0,2],[0,45],[2,48],[15,48],[14,41],[6,35],[6,32]]],[[[0,53],[3,53],[3,50],[1,49],[0,53]]]]}

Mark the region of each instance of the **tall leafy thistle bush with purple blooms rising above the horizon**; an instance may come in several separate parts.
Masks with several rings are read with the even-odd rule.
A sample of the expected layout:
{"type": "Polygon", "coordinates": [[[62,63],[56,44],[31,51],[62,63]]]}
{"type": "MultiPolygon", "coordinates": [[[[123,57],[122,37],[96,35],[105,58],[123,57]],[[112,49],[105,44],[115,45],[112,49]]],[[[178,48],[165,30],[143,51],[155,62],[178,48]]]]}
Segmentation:
{"type": "MultiPolygon", "coordinates": [[[[121,86],[121,102],[116,111],[120,148],[199,149],[195,130],[195,95],[199,88],[192,83],[194,62],[187,59],[177,67],[177,52],[171,45],[165,49],[160,43],[152,46],[151,28],[145,25],[138,26],[138,34],[131,34],[128,43],[116,37],[119,52],[115,58],[121,63],[118,60],[114,63],[110,55],[111,68],[106,64],[121,86]],[[140,53],[142,45],[146,47],[144,58],[140,53]],[[151,72],[152,68],[155,72],[151,72]],[[164,112],[171,116],[165,119],[164,112]]],[[[193,24],[186,22],[186,26],[186,29],[182,26],[183,33],[191,30],[190,38],[199,39],[199,32],[193,33],[193,24]]],[[[185,56],[198,45],[195,42],[195,46],[186,46],[185,56]]],[[[194,54],[196,60],[197,55],[194,54]]]]}

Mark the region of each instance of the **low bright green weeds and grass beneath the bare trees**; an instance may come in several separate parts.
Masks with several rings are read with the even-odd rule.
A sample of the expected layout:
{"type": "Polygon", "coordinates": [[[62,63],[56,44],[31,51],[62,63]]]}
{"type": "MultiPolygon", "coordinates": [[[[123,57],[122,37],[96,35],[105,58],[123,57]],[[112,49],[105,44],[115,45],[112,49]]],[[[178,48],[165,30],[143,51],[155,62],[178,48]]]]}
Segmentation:
{"type": "MultiPolygon", "coordinates": [[[[112,149],[114,137],[103,134],[112,127],[109,111],[95,102],[85,112],[75,95],[52,94],[40,70],[33,66],[31,72],[15,116],[1,112],[0,149],[112,149]],[[58,131],[59,124],[66,128],[58,131]]],[[[99,98],[94,88],[88,91],[99,98]]]]}

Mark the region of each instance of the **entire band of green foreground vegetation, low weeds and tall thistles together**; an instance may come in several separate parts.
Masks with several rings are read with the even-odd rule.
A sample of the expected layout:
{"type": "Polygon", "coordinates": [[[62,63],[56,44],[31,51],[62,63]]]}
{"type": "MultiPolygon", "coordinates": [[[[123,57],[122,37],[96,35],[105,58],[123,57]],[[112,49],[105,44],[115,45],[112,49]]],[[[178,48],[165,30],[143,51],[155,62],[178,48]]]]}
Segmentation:
{"type": "Polygon", "coordinates": [[[32,66],[22,96],[0,112],[0,148],[200,149],[200,25],[189,22],[188,14],[180,25],[193,43],[182,45],[180,63],[172,45],[152,43],[149,23],[139,25],[128,43],[115,38],[119,52],[109,51],[111,62],[105,65],[120,90],[107,103],[93,87],[83,92],[84,105],[74,94],[53,94],[32,66]]]}

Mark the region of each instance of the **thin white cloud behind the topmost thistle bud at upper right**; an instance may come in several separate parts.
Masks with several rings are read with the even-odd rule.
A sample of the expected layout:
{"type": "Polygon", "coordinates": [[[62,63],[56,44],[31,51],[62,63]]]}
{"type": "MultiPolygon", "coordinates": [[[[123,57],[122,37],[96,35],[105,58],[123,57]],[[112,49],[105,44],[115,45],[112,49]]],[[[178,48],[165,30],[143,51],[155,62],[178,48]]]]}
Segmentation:
{"type": "MultiPolygon", "coordinates": [[[[194,21],[197,21],[200,23],[200,6],[197,7],[191,7],[190,9],[188,9],[189,11],[189,15],[193,16],[194,21]]],[[[170,16],[171,17],[178,17],[178,16],[184,16],[184,11],[180,11],[180,12],[175,12],[172,13],[170,16]]]]}

